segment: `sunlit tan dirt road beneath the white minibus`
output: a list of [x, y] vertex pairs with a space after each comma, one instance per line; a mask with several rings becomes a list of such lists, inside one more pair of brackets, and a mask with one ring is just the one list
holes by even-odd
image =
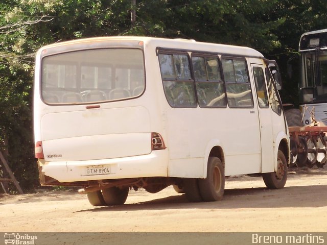
[[0, 232], [325, 232], [327, 169], [296, 169], [281, 190], [261, 177], [228, 178], [224, 200], [209, 203], [189, 203], [172, 187], [130, 191], [116, 207], [68, 191], [2, 195], [0, 217]]

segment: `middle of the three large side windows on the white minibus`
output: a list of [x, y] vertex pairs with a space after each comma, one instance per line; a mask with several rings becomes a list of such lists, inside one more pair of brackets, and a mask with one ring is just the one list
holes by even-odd
[[220, 67], [216, 57], [192, 56], [200, 107], [226, 107], [226, 97]]

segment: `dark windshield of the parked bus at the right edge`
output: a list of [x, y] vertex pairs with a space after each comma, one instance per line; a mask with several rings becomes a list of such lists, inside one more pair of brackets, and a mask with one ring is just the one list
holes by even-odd
[[305, 79], [302, 81], [301, 93], [303, 103], [327, 102], [327, 55], [320, 53], [318, 66], [314, 53], [303, 55]]

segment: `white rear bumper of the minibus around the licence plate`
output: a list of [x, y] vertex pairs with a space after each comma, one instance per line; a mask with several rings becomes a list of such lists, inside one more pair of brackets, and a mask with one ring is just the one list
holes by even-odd
[[[39, 159], [38, 161], [40, 180], [41, 184], [44, 185], [47, 184], [42, 181], [45, 177], [53, 178], [61, 183], [139, 177], [167, 177], [168, 162], [167, 149], [152, 151], [147, 155], [112, 159], [52, 162]], [[110, 174], [87, 174], [87, 169], [101, 166], [110, 169]]]

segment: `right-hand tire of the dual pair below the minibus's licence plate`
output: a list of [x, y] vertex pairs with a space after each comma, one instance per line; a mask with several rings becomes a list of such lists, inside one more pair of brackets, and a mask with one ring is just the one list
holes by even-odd
[[102, 197], [107, 206], [123, 205], [128, 196], [128, 187], [120, 189], [110, 187], [102, 190]]

